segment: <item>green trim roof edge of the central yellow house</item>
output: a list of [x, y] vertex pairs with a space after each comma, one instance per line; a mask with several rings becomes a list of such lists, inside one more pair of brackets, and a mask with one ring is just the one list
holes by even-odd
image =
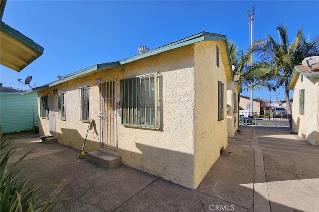
[[[87, 73], [90, 73], [90, 72], [93, 72], [93, 71], [97, 71], [97, 70], [100, 70], [100, 69], [109, 69], [109, 68], [121, 66], [121, 65], [124, 65], [124, 64], [127, 64], [127, 63], [131, 63], [131, 62], [140, 60], [142, 58], [146, 58], [146, 57], [149, 57], [149, 56], [152, 56], [152, 55], [157, 55], [157, 54], [160, 54], [160, 53], [168, 51], [168, 50], [176, 49], [176, 48], [179, 48], [179, 47], [182, 47], [182, 46], [187, 46], [187, 45], [190, 45], [190, 44], [193, 44], [193, 43], [196, 43], [196, 42], [199, 42], [199, 41], [203, 41], [203, 40], [225, 41], [226, 52], [227, 52], [227, 55], [228, 55], [228, 60], [230, 62], [230, 56], [229, 56], [229, 50], [228, 50], [228, 47], [227, 47], [228, 44], [227, 44], [226, 36], [225, 35], [220, 35], [220, 34], [215, 34], [215, 33], [210, 33], [210, 32], [200, 32], [200, 33], [197, 33], [195, 35], [191, 35], [191, 36], [183, 38], [181, 40], [178, 40], [178, 41], [169, 43], [167, 45], [158, 47], [156, 49], [150, 50], [150, 51], [148, 51], [146, 53], [143, 53], [143, 54], [135, 55], [135, 56], [132, 56], [132, 57], [129, 57], [129, 58], [117, 61], [117, 62], [97, 64], [97, 65], [90, 66], [88, 68], [85, 68], [85, 69], [82, 69], [82, 70], [79, 70], [79, 71], [75, 71], [73, 73], [64, 75], [62, 77], [62, 79], [60, 79], [60, 80], [56, 80], [56, 81], [50, 82], [50, 83], [48, 83], [46, 85], [42, 85], [40, 87], [33, 88], [32, 90], [28, 90], [27, 92], [25, 92], [25, 94], [32, 93], [32, 92], [35, 92], [37, 90], [45, 89], [47, 87], [52, 87], [54, 85], [60, 84], [62, 82], [68, 81], [70, 79], [77, 78], [79, 76], [82, 76], [84, 74], [87, 74]], [[233, 72], [232, 72], [232, 68], [231, 68], [231, 63], [229, 63], [229, 66], [230, 66], [230, 71], [231, 71], [232, 78], [234, 78]]]

